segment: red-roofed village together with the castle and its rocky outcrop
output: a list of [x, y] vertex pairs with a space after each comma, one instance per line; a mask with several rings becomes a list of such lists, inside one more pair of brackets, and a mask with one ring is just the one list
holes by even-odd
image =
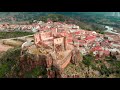
[[[22, 45], [22, 68], [25, 65], [23, 61], [27, 52], [30, 54], [27, 57], [28, 64], [45, 66], [49, 78], [61, 77], [70, 62], [76, 65], [83, 60], [84, 55], [90, 53], [93, 53], [96, 60], [110, 55], [115, 56], [117, 61], [120, 60], [119, 35], [99, 34], [95, 31], [83, 30], [74, 24], [52, 22], [51, 20], [48, 20], [47, 23], [37, 22], [32, 31], [35, 33], [34, 43], [33, 40], [27, 41], [29, 43], [27, 49]], [[33, 63], [30, 60], [35, 61]], [[53, 70], [52, 67], [56, 69]]]

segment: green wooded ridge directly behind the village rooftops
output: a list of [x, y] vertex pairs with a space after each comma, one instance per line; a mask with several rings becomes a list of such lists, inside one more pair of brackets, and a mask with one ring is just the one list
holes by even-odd
[[65, 16], [62, 14], [48, 14], [45, 16], [39, 16], [36, 17], [32, 20], [30, 20], [30, 23], [33, 23], [33, 20], [37, 20], [37, 21], [44, 21], [47, 22], [47, 20], [50, 19], [53, 22], [65, 22], [67, 24], [76, 24], [78, 26], [80, 26], [81, 29], [85, 29], [85, 30], [94, 30], [97, 32], [100, 32], [101, 30], [103, 30], [103, 27], [97, 25], [97, 24], [93, 24], [91, 22], [85, 22], [86, 20], [81, 19], [80, 16]]

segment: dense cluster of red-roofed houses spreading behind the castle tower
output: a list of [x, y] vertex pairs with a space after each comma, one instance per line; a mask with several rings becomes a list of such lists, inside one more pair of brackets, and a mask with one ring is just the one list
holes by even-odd
[[[120, 36], [103, 35], [95, 31], [82, 30], [74, 24], [48, 21], [40, 21], [34, 34], [35, 44], [50, 46], [54, 43], [55, 37], [65, 37], [67, 49], [77, 48], [83, 55], [90, 52], [97, 57], [108, 56], [111, 53], [120, 53]], [[61, 40], [58, 40], [58, 43]]]

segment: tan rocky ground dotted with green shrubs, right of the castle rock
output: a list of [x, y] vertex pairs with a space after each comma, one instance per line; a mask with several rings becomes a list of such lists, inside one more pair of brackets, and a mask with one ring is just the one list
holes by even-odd
[[88, 67], [83, 62], [78, 65], [69, 64], [64, 70], [63, 78], [119, 78], [120, 62], [92, 61]]

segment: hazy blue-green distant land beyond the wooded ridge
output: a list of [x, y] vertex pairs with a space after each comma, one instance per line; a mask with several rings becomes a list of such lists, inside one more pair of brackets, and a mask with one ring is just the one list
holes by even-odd
[[[79, 25], [82, 24], [81, 26], [88, 29], [92, 26], [96, 27], [96, 29], [97, 27], [100, 27], [101, 29], [104, 25], [120, 26], [118, 18], [109, 17], [112, 15], [112, 12], [0, 12], [0, 18], [6, 18], [4, 21], [8, 22], [10, 20], [8, 20], [7, 17], [14, 17], [17, 18], [16, 21], [19, 22], [34, 20], [41, 16], [48, 16], [49, 14], [61, 14], [67, 16], [77, 20], [77, 23], [80, 22]], [[0, 21], [0, 23], [4, 21]]]

